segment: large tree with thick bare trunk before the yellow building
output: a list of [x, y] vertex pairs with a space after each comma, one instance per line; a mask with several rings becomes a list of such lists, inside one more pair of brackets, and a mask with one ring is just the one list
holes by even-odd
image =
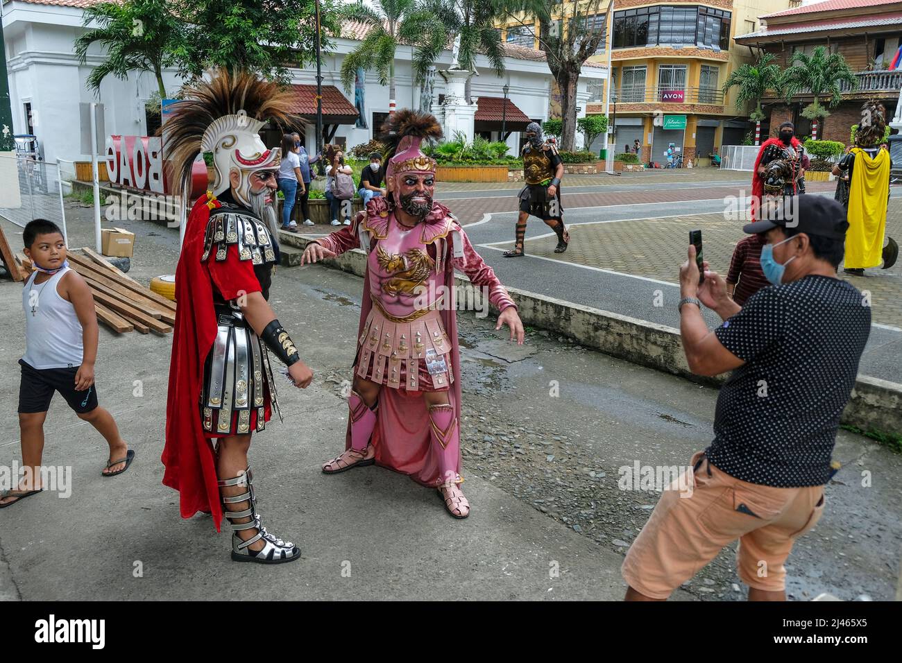
[[[585, 61], [604, 46], [606, 11], [611, 0], [561, 3], [548, 0], [506, 0], [505, 16], [533, 30], [538, 20], [538, 48], [561, 94], [560, 149], [572, 150], [576, 135], [576, 87]], [[523, 14], [520, 14], [523, 12]], [[521, 18], [527, 16], [526, 19]], [[512, 27], [509, 24], [509, 27]]]

